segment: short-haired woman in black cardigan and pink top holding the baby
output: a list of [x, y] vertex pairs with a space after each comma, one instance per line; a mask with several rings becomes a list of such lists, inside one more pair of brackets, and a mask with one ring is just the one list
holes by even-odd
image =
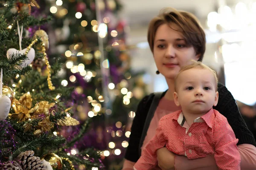
[[[159, 16], [151, 20], [148, 27], [148, 43], [157, 65], [157, 74], [166, 78], [169, 89], [161, 95], [160, 102], [154, 116], [149, 119], [149, 126], [145, 127], [146, 136], [143, 136], [143, 127], [148, 122], [147, 114], [154, 94], [145, 96], [139, 103], [136, 116], [131, 127], [129, 146], [125, 153], [123, 170], [132, 170], [133, 165], [140, 157], [143, 149], [154, 136], [160, 118], [168, 113], [179, 110], [173, 101], [174, 78], [180, 67], [189, 60], [201, 61], [204, 57], [206, 39], [205, 33], [193, 14], [165, 8]], [[218, 84], [219, 102], [214, 109], [223, 114], [236, 138], [239, 139], [238, 148], [241, 156], [242, 170], [256, 169], [256, 143], [252, 133], [248, 130], [241, 118], [235, 99], [224, 85]], [[144, 130], [144, 131], [145, 131]], [[178, 140], [178, 139], [177, 139]], [[140, 141], [143, 141], [140, 147]], [[185, 156], [177, 156], [165, 147], [157, 150], [158, 165], [162, 170], [218, 170], [213, 156], [188, 160]], [[158, 168], [159, 169], [159, 168]]]

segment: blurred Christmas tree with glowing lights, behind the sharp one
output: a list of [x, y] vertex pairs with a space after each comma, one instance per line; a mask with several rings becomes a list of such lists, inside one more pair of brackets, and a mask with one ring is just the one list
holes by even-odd
[[[93, 119], [93, 129], [76, 143], [76, 149], [96, 147], [108, 170], [120, 169], [128, 146], [132, 119], [145, 85], [131, 71], [126, 45], [127, 25], [120, 17], [118, 0], [46, 0], [42, 9], [52, 16], [50, 58], [63, 56], [61, 78], [75, 87], [80, 103], [76, 119]], [[141, 73], [140, 73], [141, 74]], [[138, 77], [139, 76], [139, 77]], [[64, 131], [70, 136], [75, 127]], [[84, 142], [86, 141], [86, 142]]]

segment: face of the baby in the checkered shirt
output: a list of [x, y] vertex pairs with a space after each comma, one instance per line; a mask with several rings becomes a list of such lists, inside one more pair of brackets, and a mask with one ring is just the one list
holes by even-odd
[[216, 80], [207, 69], [192, 68], [177, 78], [177, 96], [182, 110], [190, 113], [207, 113], [218, 103]]

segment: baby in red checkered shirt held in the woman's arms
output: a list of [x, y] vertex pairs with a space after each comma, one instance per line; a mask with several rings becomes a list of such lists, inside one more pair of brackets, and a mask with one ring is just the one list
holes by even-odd
[[218, 111], [218, 78], [201, 62], [181, 68], [175, 78], [174, 101], [180, 111], [163, 116], [155, 136], [148, 142], [134, 170], [150, 170], [157, 165], [157, 150], [198, 159], [214, 154], [219, 170], [240, 170], [238, 139]]

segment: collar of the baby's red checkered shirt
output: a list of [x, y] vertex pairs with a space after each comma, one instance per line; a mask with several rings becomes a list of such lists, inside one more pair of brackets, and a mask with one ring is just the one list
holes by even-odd
[[[213, 113], [213, 109], [211, 108], [211, 110], [209, 110], [206, 114], [204, 114], [201, 117], [198, 117], [194, 120], [194, 122], [206, 122], [206, 124], [212, 128], [212, 124], [214, 121], [214, 113]], [[185, 117], [182, 113], [182, 111], [179, 111], [179, 113], [177, 114], [177, 116], [174, 116], [173, 119], [177, 120], [178, 124], [180, 124], [181, 126], [184, 125], [185, 122]]]

